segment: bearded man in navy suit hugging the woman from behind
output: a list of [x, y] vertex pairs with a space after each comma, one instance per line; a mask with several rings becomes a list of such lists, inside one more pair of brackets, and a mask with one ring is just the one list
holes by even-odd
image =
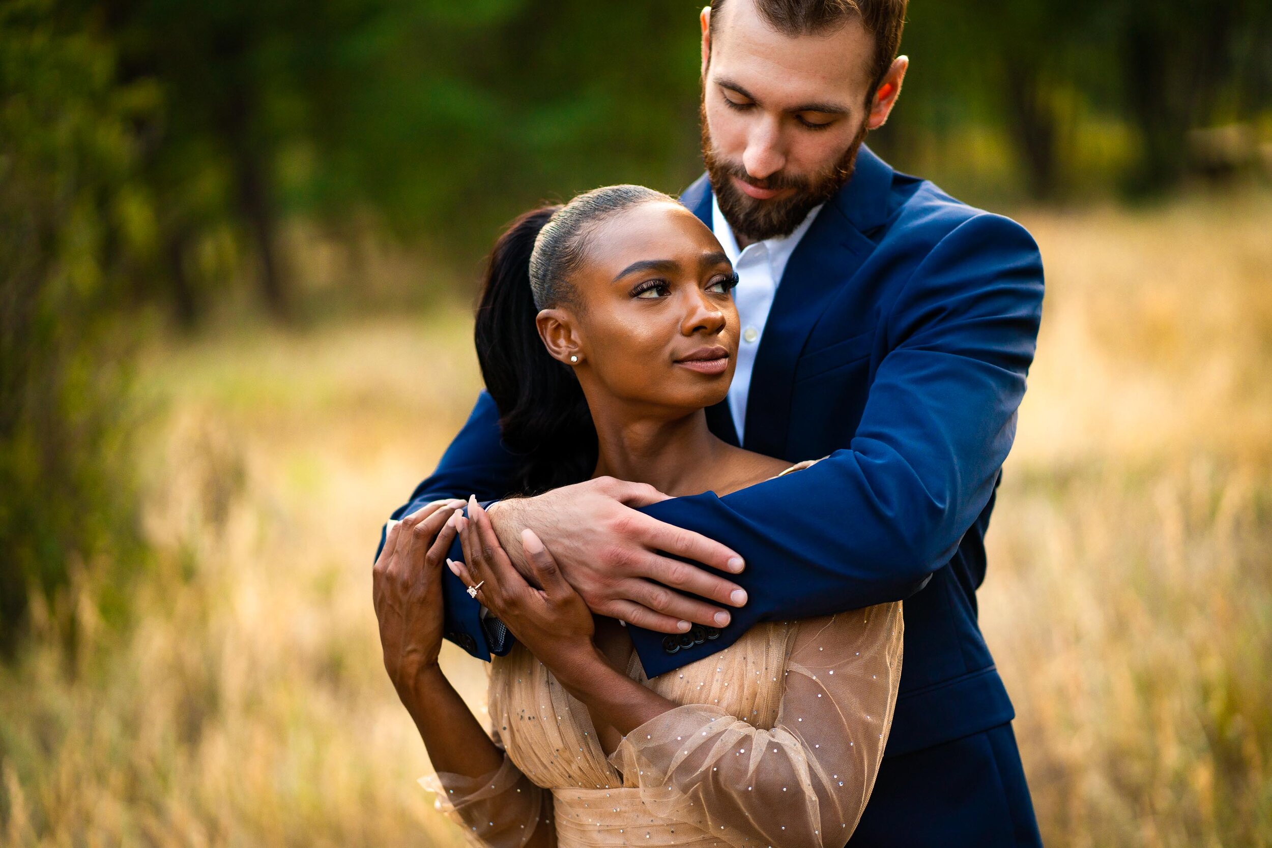
[[[1019, 225], [862, 144], [901, 94], [904, 15], [906, 0], [714, 0], [701, 13], [707, 173], [681, 200], [734, 263], [742, 320], [711, 428], [792, 463], [826, 459], [725, 497], [599, 478], [499, 500], [515, 458], [483, 393], [393, 517], [497, 501], [504, 548], [532, 529], [594, 613], [631, 626], [649, 678], [759, 620], [903, 600], [899, 699], [850, 844], [1037, 845], [976, 589], [1042, 261]], [[444, 577], [448, 638], [482, 659], [506, 651], [506, 628]]]

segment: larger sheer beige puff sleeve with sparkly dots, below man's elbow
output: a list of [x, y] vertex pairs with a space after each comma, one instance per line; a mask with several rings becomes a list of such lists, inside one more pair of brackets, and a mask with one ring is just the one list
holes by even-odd
[[719, 707], [686, 704], [645, 722], [614, 750], [611, 762], [653, 811], [730, 845], [847, 842], [870, 798], [897, 704], [901, 603], [795, 627], [771, 730]]

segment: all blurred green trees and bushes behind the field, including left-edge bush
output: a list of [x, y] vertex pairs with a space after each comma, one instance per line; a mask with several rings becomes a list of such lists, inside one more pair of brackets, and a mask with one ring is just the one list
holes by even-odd
[[[420, 250], [403, 287], [441, 289], [532, 203], [682, 188], [698, 3], [0, 6], [0, 632], [23, 586], [53, 598], [130, 535], [121, 341], [141, 308], [191, 328], [254, 291], [293, 319], [309, 254], [368, 242]], [[969, 200], [1272, 163], [1266, 0], [916, 0], [911, 18], [906, 95], [871, 144]]]

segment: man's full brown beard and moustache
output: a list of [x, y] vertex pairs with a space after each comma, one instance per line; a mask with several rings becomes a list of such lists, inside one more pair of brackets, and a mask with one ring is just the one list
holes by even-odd
[[[731, 163], [716, 155], [715, 145], [711, 144], [711, 130], [707, 127], [706, 104], [702, 103], [698, 111], [702, 125], [702, 160], [706, 163], [716, 202], [720, 203], [720, 212], [736, 235], [752, 242], [790, 235], [813, 209], [834, 197], [836, 192], [852, 179], [857, 150], [868, 132], [862, 121], [861, 130], [848, 149], [838, 161], [822, 172], [812, 175], [777, 172], [764, 179], [754, 179], [747, 175], [747, 169], [740, 163]], [[738, 188], [730, 177], [758, 188], [795, 191], [782, 198], [757, 200]]]

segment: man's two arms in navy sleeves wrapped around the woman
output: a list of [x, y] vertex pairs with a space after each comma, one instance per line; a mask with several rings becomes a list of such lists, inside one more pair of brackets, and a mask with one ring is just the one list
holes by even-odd
[[[722, 498], [658, 500], [647, 487], [602, 479], [508, 501], [494, 514], [500, 539], [515, 561], [511, 542], [533, 528], [593, 610], [664, 633], [677, 632], [678, 619], [719, 627], [715, 615], [735, 605], [739, 587], [749, 590], [749, 603], [730, 610], [721, 642], [759, 619], [906, 598], [948, 562], [992, 495], [1015, 434], [1042, 294], [1042, 261], [1029, 234], [1007, 219], [977, 215], [880, 304], [878, 365], [842, 450]], [[514, 462], [500, 444], [495, 404], [482, 395], [438, 472], [403, 509], [439, 496], [500, 497], [499, 481], [506, 487]], [[735, 557], [745, 570], [725, 580]], [[717, 605], [693, 606], [667, 586]], [[459, 603], [467, 601], [463, 587], [449, 581], [446, 591], [457, 601], [448, 604], [455, 628], [480, 633], [477, 605]], [[466, 615], [467, 624], [459, 620]], [[635, 631], [633, 638], [642, 659], [661, 653], [651, 647], [661, 641], [656, 633]], [[483, 647], [476, 653], [485, 656]]]

